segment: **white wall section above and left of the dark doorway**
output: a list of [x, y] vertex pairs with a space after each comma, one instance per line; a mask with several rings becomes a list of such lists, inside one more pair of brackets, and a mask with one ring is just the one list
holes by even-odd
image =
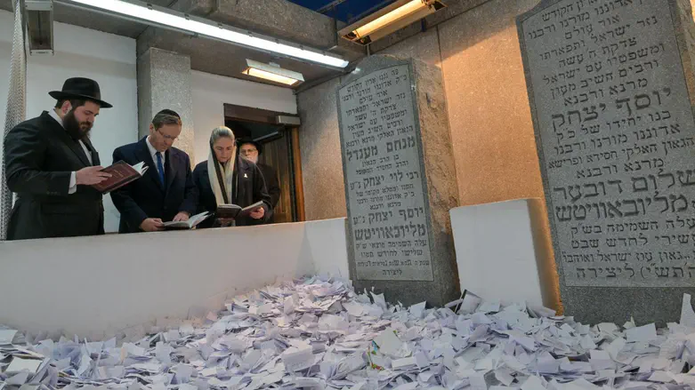
[[224, 103], [296, 114], [295, 94], [289, 88], [193, 71], [193, 125], [196, 163], [207, 160], [210, 132], [224, 125]]

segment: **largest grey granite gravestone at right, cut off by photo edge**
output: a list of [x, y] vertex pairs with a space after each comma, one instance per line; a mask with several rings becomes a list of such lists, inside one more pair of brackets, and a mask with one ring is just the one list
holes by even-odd
[[677, 321], [695, 290], [679, 12], [675, 0], [545, 0], [517, 20], [562, 302], [580, 321]]

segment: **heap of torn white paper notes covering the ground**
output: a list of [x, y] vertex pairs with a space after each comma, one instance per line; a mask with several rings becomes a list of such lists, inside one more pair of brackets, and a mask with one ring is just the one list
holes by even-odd
[[695, 314], [681, 324], [582, 325], [473, 295], [387, 306], [312, 277], [234, 298], [137, 340], [31, 339], [0, 329], [0, 390], [53, 388], [591, 390], [695, 386]]

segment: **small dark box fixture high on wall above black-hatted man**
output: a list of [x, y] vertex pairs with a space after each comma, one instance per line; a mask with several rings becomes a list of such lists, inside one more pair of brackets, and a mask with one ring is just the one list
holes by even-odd
[[24, 0], [30, 54], [53, 54], [53, 0]]

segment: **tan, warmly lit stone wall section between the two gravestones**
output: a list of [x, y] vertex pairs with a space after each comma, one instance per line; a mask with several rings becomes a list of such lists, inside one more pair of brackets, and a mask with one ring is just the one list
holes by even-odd
[[490, 1], [439, 26], [461, 205], [543, 197], [514, 24], [537, 1], [509, 3]]

